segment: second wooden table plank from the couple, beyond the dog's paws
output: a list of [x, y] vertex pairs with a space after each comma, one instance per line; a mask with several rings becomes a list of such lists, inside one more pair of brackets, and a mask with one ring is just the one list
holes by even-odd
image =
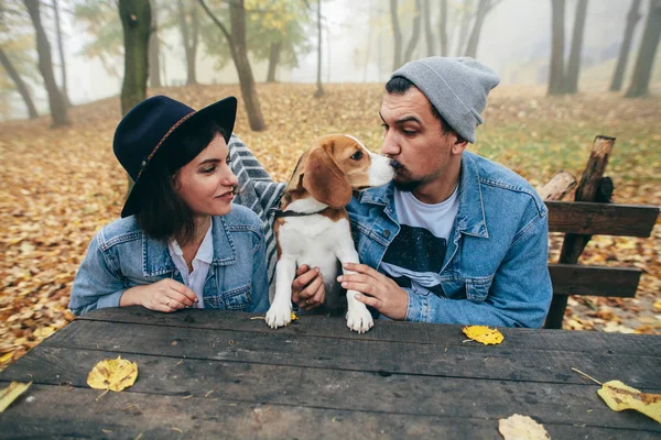
[[[465, 340], [463, 334], [454, 338]], [[301, 338], [281, 332], [76, 321], [75, 326], [69, 324], [42, 345], [117, 351], [122, 355], [143, 353], [177, 359], [549, 383], [582, 383], [583, 378], [571, 371], [577, 367], [597, 378], [617, 377], [639, 388], [658, 386], [661, 371], [661, 352], [649, 351], [651, 345], [642, 355], [615, 351], [613, 354], [588, 353], [562, 348], [538, 350], [530, 344], [516, 346], [508, 343], [507, 337], [500, 345], [485, 346], [469, 341], [444, 348], [410, 342]]]

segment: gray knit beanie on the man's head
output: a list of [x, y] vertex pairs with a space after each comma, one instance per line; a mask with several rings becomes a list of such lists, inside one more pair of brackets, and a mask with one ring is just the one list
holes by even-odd
[[415, 85], [462, 138], [475, 143], [475, 129], [483, 123], [489, 90], [500, 78], [484, 64], [468, 57], [432, 56], [409, 62], [392, 74]]

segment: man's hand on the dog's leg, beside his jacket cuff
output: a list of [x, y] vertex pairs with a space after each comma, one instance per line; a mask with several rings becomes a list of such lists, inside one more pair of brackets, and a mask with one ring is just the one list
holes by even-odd
[[356, 274], [337, 277], [342, 287], [357, 290], [356, 299], [371, 306], [390, 319], [407, 319], [409, 294], [395, 282], [366, 264], [345, 263], [343, 267]]

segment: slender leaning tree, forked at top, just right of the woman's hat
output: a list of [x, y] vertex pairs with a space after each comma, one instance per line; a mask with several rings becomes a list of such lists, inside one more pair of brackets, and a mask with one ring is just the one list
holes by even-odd
[[204, 8], [209, 18], [216, 23], [227, 40], [231, 58], [234, 59], [239, 82], [241, 86], [241, 96], [246, 102], [246, 111], [248, 112], [248, 123], [252, 131], [267, 130], [264, 118], [259, 105], [259, 97], [254, 86], [254, 77], [252, 68], [248, 59], [248, 48], [246, 46], [246, 8], [243, 0], [235, 0], [229, 4], [229, 20], [231, 24], [231, 34], [225, 28], [225, 24], [212, 12], [204, 0], [199, 0], [199, 4]]

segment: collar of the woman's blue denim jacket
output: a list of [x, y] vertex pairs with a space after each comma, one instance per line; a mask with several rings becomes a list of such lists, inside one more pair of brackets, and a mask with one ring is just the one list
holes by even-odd
[[[236, 262], [234, 242], [223, 217], [212, 217], [214, 260], [212, 265], [224, 266]], [[158, 276], [176, 268], [167, 242], [151, 239], [142, 232], [142, 272], [145, 276]]]

